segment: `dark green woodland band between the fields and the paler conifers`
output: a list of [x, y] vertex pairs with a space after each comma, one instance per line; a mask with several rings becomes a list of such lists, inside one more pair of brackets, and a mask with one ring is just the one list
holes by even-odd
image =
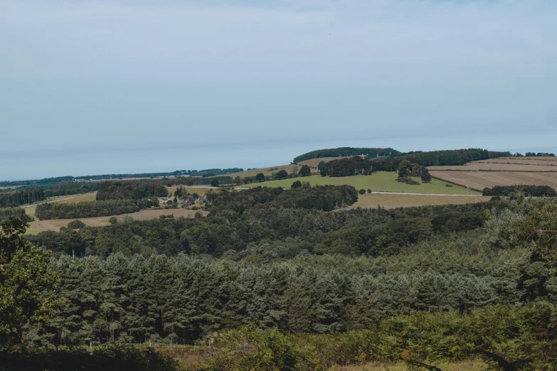
[[[206, 217], [127, 220], [107, 227], [83, 227], [79, 232], [42, 232], [28, 239], [56, 252], [107, 256], [156, 252], [211, 254], [244, 250], [263, 240], [287, 243], [284, 254], [306, 249], [318, 254], [396, 254], [439, 232], [474, 230], [485, 212], [504, 203], [444, 205], [396, 210], [338, 210], [351, 205], [356, 190], [349, 186], [252, 188], [221, 190], [206, 195]], [[77, 217], [73, 217], [77, 218]]]

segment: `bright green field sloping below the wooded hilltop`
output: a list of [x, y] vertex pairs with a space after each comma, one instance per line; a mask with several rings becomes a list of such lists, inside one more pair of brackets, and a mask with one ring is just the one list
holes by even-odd
[[404, 193], [439, 193], [446, 195], [480, 195], [481, 193], [470, 190], [460, 185], [452, 185], [447, 187], [447, 182], [438, 179], [432, 179], [431, 183], [421, 183], [420, 178], [413, 178], [420, 185], [409, 185], [406, 183], [398, 183], [396, 173], [388, 171], [380, 171], [373, 173], [371, 176], [306, 176], [304, 178], [290, 178], [282, 181], [267, 181], [263, 183], [251, 183], [243, 185], [244, 187], [257, 187], [259, 185], [266, 187], [282, 187], [290, 188], [295, 181], [309, 182], [310, 185], [354, 185], [357, 190], [371, 189], [372, 191], [383, 192], [404, 192]]

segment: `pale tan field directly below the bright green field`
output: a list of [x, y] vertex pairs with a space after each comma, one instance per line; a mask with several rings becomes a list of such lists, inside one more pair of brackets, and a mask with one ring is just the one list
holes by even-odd
[[359, 195], [358, 201], [347, 209], [354, 208], [382, 208], [392, 209], [411, 206], [425, 205], [448, 205], [448, 204], [465, 204], [479, 203], [489, 201], [490, 197], [484, 196], [459, 196], [459, 195], [389, 195], [386, 193], [366, 193]]

